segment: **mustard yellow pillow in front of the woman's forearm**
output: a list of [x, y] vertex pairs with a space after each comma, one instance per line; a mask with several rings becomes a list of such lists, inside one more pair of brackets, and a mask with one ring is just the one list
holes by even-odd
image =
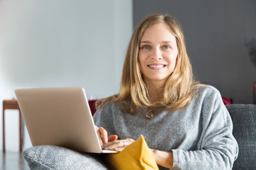
[[142, 135], [119, 153], [103, 154], [103, 159], [111, 170], [158, 170]]

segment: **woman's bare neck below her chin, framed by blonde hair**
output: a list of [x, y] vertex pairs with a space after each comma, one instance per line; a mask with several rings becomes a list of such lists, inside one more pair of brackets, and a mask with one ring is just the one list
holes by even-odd
[[148, 89], [149, 100], [159, 101], [163, 97], [163, 90], [166, 80], [147, 80], [144, 79], [144, 83]]

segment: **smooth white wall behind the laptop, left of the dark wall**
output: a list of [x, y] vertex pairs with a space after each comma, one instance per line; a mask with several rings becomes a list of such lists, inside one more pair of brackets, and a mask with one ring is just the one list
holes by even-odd
[[[132, 0], [1, 0], [0, 101], [23, 87], [82, 86], [89, 98], [117, 93], [131, 33]], [[18, 151], [18, 112], [5, 115], [6, 150]], [[24, 146], [31, 146], [27, 134]]]

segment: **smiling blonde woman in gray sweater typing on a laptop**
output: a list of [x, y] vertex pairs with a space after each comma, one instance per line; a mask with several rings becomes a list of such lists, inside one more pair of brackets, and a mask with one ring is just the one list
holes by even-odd
[[182, 30], [171, 16], [139, 23], [119, 93], [96, 107], [103, 149], [122, 151], [142, 134], [159, 169], [232, 169], [238, 156], [220, 93], [194, 81]]

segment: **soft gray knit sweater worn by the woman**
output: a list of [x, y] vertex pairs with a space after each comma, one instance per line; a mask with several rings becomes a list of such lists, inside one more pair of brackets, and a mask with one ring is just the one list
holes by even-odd
[[[108, 136], [136, 140], [140, 134], [148, 147], [173, 153], [172, 169], [232, 169], [238, 156], [238, 144], [232, 135], [233, 124], [217, 89], [199, 85], [197, 95], [178, 111], [157, 111], [153, 119], [145, 109], [133, 115], [123, 112], [110, 101], [94, 114], [95, 125], [107, 130]], [[164, 170], [159, 166], [159, 169]]]

